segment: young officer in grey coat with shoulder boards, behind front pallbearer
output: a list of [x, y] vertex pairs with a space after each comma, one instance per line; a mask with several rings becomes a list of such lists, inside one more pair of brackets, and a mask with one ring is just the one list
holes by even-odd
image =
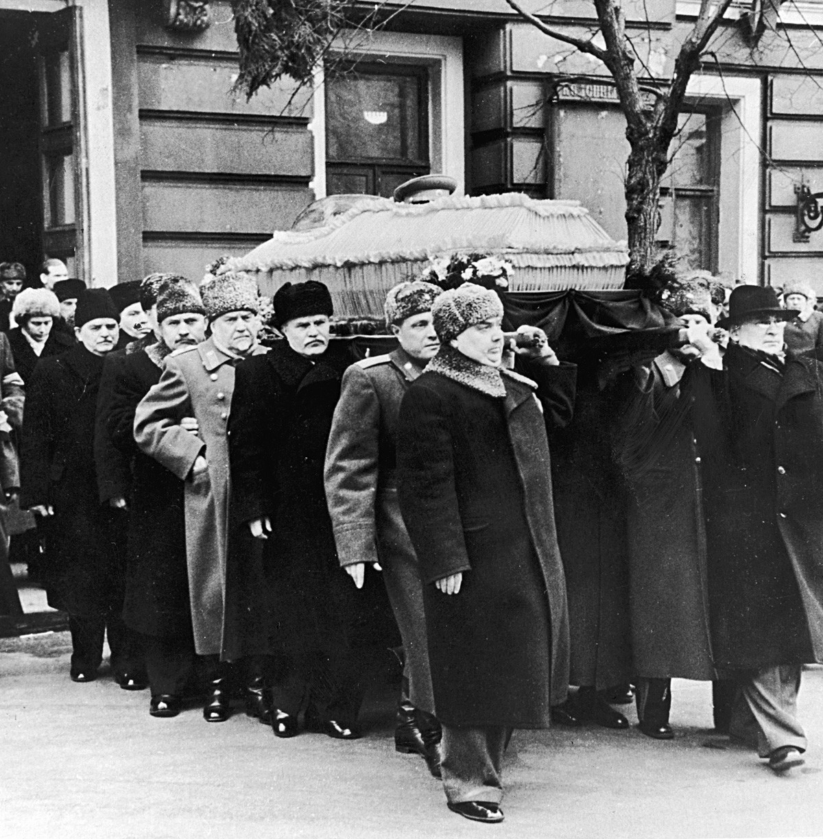
[[403, 638], [406, 666], [395, 748], [421, 754], [435, 777], [441, 731], [433, 716], [420, 571], [397, 503], [396, 433], [403, 394], [440, 347], [432, 303], [442, 290], [431, 283], [401, 283], [386, 296], [385, 322], [400, 347], [343, 374], [325, 474], [340, 564], [358, 588], [366, 564], [382, 569]]

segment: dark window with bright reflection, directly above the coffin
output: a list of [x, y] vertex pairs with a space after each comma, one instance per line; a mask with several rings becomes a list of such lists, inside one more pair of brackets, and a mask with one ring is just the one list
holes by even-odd
[[428, 70], [358, 64], [326, 81], [326, 191], [391, 197], [431, 170]]

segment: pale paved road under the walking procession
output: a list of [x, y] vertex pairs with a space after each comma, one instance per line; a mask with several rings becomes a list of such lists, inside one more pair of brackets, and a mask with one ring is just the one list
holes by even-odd
[[[710, 686], [676, 682], [678, 737], [636, 729], [516, 732], [506, 821], [450, 813], [422, 759], [391, 740], [391, 690], [370, 696], [367, 735], [278, 740], [238, 712], [148, 713], [148, 692], [102, 674], [68, 678], [67, 633], [0, 640], [2, 839], [449, 839], [823, 836], [823, 670], [809, 670], [800, 715], [804, 769], [776, 778], [710, 731]], [[632, 716], [632, 719], [634, 717]]]

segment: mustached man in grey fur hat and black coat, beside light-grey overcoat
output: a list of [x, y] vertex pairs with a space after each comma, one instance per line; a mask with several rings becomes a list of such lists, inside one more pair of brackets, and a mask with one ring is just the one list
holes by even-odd
[[184, 277], [149, 274], [141, 285], [141, 308], [152, 312], [156, 324], [154, 340], [131, 341], [106, 359], [94, 448], [100, 502], [128, 504], [128, 533], [120, 545], [128, 567], [123, 618], [139, 633], [145, 653], [145, 668], [120, 686], [140, 690], [149, 684], [149, 711], [172, 716], [195, 658], [183, 485], [135, 446], [134, 411], [160, 380], [165, 356], [204, 339], [206, 320], [197, 289]]

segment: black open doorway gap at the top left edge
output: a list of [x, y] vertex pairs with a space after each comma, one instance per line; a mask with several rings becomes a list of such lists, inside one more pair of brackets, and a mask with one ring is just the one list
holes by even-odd
[[23, 263], [29, 282], [42, 260], [38, 17], [0, 13], [0, 261]]

